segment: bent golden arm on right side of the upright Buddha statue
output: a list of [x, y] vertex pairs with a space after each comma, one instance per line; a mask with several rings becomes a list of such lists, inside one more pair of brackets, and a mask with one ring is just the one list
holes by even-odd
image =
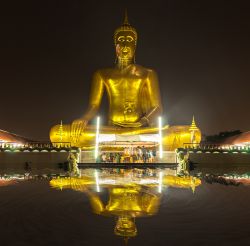
[[[161, 95], [159, 90], [159, 82], [156, 72], [150, 70], [148, 72], [146, 87], [148, 89], [151, 108], [143, 117], [146, 120], [146, 125], [154, 124], [155, 118], [162, 113]], [[145, 122], [144, 124], [145, 125]]]

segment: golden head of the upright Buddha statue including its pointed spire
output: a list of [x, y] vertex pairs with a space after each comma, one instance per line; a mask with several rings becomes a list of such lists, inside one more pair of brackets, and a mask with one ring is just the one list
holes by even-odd
[[115, 30], [114, 43], [116, 56], [121, 60], [132, 60], [135, 55], [137, 32], [128, 22], [127, 11], [123, 24]]

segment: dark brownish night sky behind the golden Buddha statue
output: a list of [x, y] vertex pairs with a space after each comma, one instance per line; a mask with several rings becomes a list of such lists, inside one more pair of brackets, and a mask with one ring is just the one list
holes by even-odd
[[248, 2], [1, 3], [0, 129], [46, 140], [51, 126], [81, 116], [93, 72], [114, 66], [113, 32], [127, 7], [137, 63], [159, 76], [165, 122], [195, 115], [205, 134], [250, 130]]

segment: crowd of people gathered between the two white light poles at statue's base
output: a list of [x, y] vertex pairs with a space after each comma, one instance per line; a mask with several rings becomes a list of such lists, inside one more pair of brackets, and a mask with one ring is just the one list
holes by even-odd
[[155, 148], [124, 148], [120, 152], [101, 152], [96, 162], [98, 163], [153, 163], [156, 158]]

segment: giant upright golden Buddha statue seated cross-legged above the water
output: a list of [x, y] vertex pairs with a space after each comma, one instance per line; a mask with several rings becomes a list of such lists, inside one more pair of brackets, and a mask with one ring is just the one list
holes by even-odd
[[[114, 33], [117, 65], [95, 72], [91, 84], [89, 106], [85, 114], [71, 125], [56, 125], [51, 129], [51, 142], [71, 142], [77, 147], [94, 146], [95, 125], [90, 125], [100, 107], [104, 90], [109, 99], [109, 124], [102, 126], [105, 134], [156, 134], [157, 117], [162, 114], [162, 103], [157, 74], [154, 70], [135, 64], [137, 32], [124, 23]], [[59, 134], [63, 129], [63, 134]], [[195, 133], [195, 136], [194, 136]], [[190, 126], [163, 127], [163, 144], [169, 148], [200, 142], [198, 128], [191, 133]]]

